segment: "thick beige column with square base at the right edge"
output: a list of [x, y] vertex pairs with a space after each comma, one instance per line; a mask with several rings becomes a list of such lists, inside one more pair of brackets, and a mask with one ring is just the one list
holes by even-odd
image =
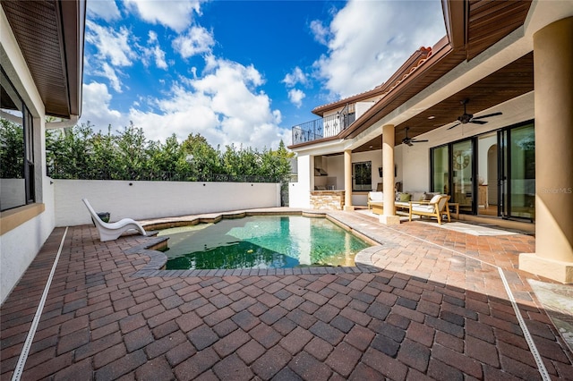
[[573, 17], [534, 35], [535, 254], [519, 269], [573, 283]]

